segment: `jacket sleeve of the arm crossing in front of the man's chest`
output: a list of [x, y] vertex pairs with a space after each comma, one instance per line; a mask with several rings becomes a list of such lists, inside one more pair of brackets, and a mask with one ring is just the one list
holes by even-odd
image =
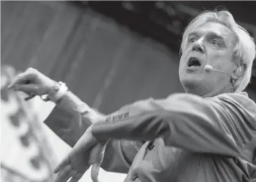
[[192, 152], [239, 156], [256, 137], [256, 105], [246, 96], [201, 98], [176, 94], [156, 100], [160, 109], [112, 123], [96, 123], [98, 139], [151, 140]]

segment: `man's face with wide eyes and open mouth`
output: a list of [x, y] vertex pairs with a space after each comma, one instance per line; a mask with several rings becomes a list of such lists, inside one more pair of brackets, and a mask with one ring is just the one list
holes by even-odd
[[199, 86], [213, 91], [228, 84], [228, 75], [204, 68], [210, 65], [232, 75], [235, 40], [234, 33], [220, 23], [205, 23], [190, 32], [179, 63], [179, 80], [183, 87]]

